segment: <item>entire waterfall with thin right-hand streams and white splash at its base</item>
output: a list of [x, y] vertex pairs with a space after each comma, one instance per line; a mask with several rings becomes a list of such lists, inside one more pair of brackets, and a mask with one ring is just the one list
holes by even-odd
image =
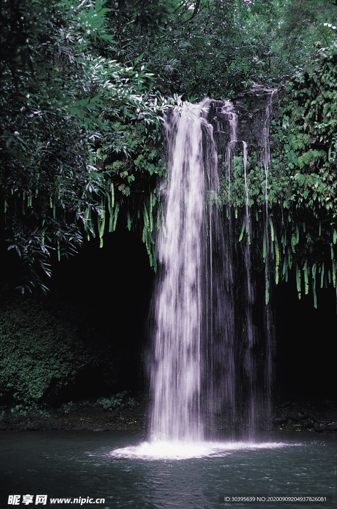
[[[261, 134], [266, 182], [273, 92]], [[215, 137], [224, 137], [225, 126], [227, 186], [230, 190], [231, 157], [241, 144], [247, 196], [245, 271], [239, 291], [230, 207], [225, 222], [217, 198]], [[269, 306], [261, 306], [264, 330], [258, 330], [253, 312], [247, 143], [237, 139], [237, 114], [230, 101], [184, 103], [166, 118], [165, 131], [169, 177], [150, 317], [153, 342], [147, 354], [149, 442], [112, 454], [186, 459], [280, 447], [283, 444], [256, 442], [256, 431], [268, 430], [271, 423], [274, 335]], [[243, 436], [248, 441], [214, 441], [219, 438], [217, 414], [225, 415], [230, 439]]]

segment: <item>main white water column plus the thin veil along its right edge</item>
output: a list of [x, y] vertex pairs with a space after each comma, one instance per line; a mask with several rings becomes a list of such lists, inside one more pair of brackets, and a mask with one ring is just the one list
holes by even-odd
[[202, 440], [214, 413], [224, 406], [233, 413], [235, 404], [232, 268], [216, 204], [217, 152], [207, 105], [185, 103], [166, 122], [169, 183], [148, 362], [153, 439]]

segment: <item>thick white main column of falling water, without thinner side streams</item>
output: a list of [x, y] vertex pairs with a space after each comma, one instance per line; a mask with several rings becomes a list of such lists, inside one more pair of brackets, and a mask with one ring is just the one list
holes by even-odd
[[205, 175], [201, 110], [186, 104], [166, 124], [169, 184], [163, 266], [154, 294], [156, 331], [151, 359], [151, 436], [201, 440], [201, 341], [206, 252]]

